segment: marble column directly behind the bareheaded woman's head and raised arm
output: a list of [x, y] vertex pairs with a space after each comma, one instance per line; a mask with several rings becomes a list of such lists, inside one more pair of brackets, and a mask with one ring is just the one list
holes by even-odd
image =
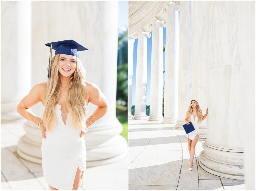
[[[192, 99], [206, 112], [206, 1], [193, 1]], [[199, 124], [199, 140], [206, 140], [207, 118]]]

